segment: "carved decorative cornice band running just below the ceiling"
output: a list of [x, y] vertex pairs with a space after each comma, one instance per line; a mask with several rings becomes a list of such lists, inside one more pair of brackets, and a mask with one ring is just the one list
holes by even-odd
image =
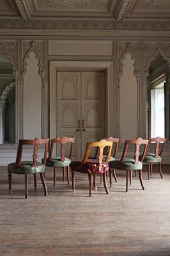
[[0, 29], [43, 29], [59, 30], [138, 30], [138, 31], [169, 31], [170, 21], [141, 21], [141, 20], [111, 20], [111, 19], [54, 19], [54, 20], [0, 20]]

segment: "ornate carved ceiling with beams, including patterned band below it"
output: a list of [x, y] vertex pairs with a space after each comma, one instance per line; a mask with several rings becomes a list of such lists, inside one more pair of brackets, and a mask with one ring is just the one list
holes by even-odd
[[[80, 22], [87, 23], [82, 28]], [[164, 29], [170, 22], [170, 0], [0, 0], [0, 28], [119, 29], [122, 22], [124, 29], [130, 22], [134, 29], [136, 22], [141, 29], [147, 27], [144, 22], [151, 29], [160, 22]]]

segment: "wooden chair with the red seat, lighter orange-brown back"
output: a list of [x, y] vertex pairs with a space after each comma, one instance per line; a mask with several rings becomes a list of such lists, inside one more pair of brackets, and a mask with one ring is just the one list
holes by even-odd
[[[89, 159], [90, 150], [93, 148], [98, 148], [98, 157], [97, 159]], [[104, 148], [109, 147], [107, 150], [107, 155], [104, 159]], [[112, 141], [94, 141], [86, 144], [86, 151], [84, 158], [81, 160], [73, 161], [70, 163], [70, 168], [72, 171], [72, 189], [75, 191], [75, 172], [86, 173], [88, 174], [89, 179], [89, 196], [91, 196], [91, 174], [95, 177], [96, 174], [102, 173], [104, 188], [107, 194], [109, 194], [105, 173], [109, 170], [108, 161], [111, 156], [112, 150]], [[95, 174], [95, 175], [94, 175]], [[94, 180], [95, 183], [95, 180]], [[94, 184], [95, 187], [95, 184]]]

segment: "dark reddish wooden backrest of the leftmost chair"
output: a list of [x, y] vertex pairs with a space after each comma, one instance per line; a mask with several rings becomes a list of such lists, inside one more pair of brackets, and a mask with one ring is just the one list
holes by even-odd
[[45, 145], [44, 147], [44, 156], [43, 156], [43, 164], [46, 163], [47, 153], [49, 149], [49, 139], [39, 139], [35, 138], [35, 140], [19, 140], [19, 146], [17, 149], [17, 158], [15, 161], [15, 169], [19, 168], [20, 163], [22, 161], [22, 153], [24, 145], [31, 145], [33, 146], [33, 166], [37, 167], [37, 159], [38, 159], [38, 150], [41, 145]]

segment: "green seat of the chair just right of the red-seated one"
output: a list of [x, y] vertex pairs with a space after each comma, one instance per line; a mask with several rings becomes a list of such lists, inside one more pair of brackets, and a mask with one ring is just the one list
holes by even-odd
[[141, 170], [143, 168], [143, 163], [139, 161], [138, 164], [135, 163], [135, 159], [125, 158], [121, 164], [120, 159], [115, 159], [114, 161], [109, 162], [109, 166], [118, 170]]

